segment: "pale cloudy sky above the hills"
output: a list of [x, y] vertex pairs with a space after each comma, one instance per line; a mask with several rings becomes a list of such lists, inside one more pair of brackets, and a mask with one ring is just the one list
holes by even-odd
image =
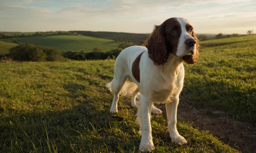
[[0, 32], [145, 34], [171, 17], [197, 34], [256, 33], [256, 0], [0, 0]]

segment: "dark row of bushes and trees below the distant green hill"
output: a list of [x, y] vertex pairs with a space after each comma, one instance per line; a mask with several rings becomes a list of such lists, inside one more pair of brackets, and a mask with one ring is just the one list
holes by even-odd
[[98, 47], [94, 48], [92, 52], [63, 52], [60, 49], [34, 46], [32, 44], [21, 44], [10, 49], [10, 53], [4, 57], [11, 58], [14, 61], [32, 61], [32, 62], [46, 62], [46, 61], [66, 61], [70, 60], [105, 60], [115, 59], [122, 48], [113, 49], [107, 52], [101, 52]]

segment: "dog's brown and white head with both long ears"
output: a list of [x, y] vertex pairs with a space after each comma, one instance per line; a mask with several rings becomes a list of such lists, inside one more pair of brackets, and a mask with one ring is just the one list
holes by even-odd
[[170, 53], [194, 64], [199, 55], [199, 44], [193, 27], [184, 18], [169, 18], [155, 26], [146, 40], [148, 55], [156, 65], [164, 65]]

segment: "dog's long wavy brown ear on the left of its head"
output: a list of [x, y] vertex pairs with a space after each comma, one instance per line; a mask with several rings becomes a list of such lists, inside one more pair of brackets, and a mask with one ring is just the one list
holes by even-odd
[[146, 47], [148, 49], [148, 56], [158, 66], [164, 65], [168, 58], [169, 53], [166, 48], [166, 41], [164, 35], [165, 26], [155, 26], [153, 32], [146, 40]]

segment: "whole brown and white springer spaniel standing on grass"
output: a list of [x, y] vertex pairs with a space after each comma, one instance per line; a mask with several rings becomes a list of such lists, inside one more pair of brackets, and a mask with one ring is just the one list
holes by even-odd
[[[110, 112], [117, 112], [119, 94], [132, 94], [132, 106], [138, 108], [137, 123], [142, 136], [139, 149], [152, 151], [150, 117], [162, 111], [153, 103], [165, 103], [172, 142], [187, 143], [176, 128], [177, 106], [183, 87], [184, 67], [197, 62], [199, 44], [193, 27], [184, 18], [169, 18], [155, 26], [146, 47], [132, 46], [116, 58], [114, 78], [107, 87], [114, 90]], [[136, 97], [140, 94], [140, 102]]]

